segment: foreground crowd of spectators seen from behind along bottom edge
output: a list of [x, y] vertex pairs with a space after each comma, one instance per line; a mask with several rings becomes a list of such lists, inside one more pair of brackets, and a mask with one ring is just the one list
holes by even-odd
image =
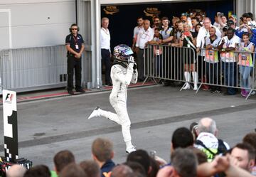
[[[92, 142], [92, 159], [78, 162], [71, 151], [53, 157], [54, 170], [36, 165], [26, 170], [14, 165], [7, 177], [191, 177], [256, 176], [256, 132], [246, 134], [231, 147], [218, 137], [216, 122], [209, 117], [179, 127], [171, 137], [170, 154], [156, 156], [144, 149], [127, 154], [124, 163], [114, 163], [114, 144], [109, 139]], [[166, 159], [167, 161], [165, 161]]]

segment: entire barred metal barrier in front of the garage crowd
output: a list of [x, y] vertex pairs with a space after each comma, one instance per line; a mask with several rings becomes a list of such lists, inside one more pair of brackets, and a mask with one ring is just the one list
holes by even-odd
[[227, 87], [230, 94], [241, 89], [246, 99], [255, 91], [255, 53], [201, 48], [204, 56], [199, 56], [193, 48], [169, 45], [147, 45], [144, 53], [146, 80], [185, 82], [181, 90], [193, 83], [196, 92], [202, 85], [210, 85], [215, 92], [220, 92], [220, 87]]

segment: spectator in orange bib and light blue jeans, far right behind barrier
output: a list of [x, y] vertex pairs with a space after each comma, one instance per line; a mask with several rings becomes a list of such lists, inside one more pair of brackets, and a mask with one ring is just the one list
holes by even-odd
[[242, 43], [238, 55], [238, 65], [240, 65], [241, 75], [241, 95], [247, 97], [250, 92], [250, 73], [252, 73], [253, 63], [252, 52], [255, 51], [255, 45], [249, 41], [249, 33], [242, 34]]

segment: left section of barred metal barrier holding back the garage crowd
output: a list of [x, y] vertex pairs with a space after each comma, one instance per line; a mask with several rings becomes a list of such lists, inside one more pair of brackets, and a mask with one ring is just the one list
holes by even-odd
[[146, 79], [185, 81], [183, 77], [184, 64], [196, 63], [196, 51], [192, 48], [148, 45], [144, 49], [144, 53]]

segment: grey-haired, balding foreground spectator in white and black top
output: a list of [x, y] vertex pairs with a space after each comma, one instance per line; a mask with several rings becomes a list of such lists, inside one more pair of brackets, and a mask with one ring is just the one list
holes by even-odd
[[216, 135], [218, 129], [213, 119], [208, 117], [201, 119], [198, 122], [197, 133], [198, 137], [196, 139], [195, 147], [206, 154], [208, 161], [213, 161], [215, 155], [223, 154], [230, 149], [226, 142], [217, 139]]

